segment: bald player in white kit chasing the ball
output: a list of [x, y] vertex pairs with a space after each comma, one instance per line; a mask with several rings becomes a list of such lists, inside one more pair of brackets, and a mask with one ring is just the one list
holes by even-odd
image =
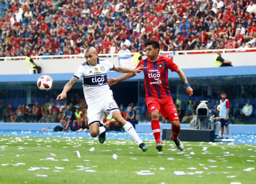
[[88, 105], [87, 117], [90, 135], [92, 137], [99, 135], [99, 142], [103, 144], [106, 138], [106, 125], [103, 124], [103, 118], [105, 115], [112, 115], [116, 122], [125, 129], [145, 152], [148, 150], [148, 146], [141, 141], [132, 124], [122, 118], [113, 98], [113, 92], [108, 86], [106, 75], [111, 70], [122, 73], [132, 72], [138, 75], [144, 66], [140, 66], [137, 69], [114, 66], [108, 60], [100, 60], [94, 47], [87, 47], [84, 56], [86, 62], [81, 63], [76, 73], [64, 86], [61, 94], [58, 95], [57, 100], [66, 98], [67, 92], [73, 84], [83, 77], [84, 97]]

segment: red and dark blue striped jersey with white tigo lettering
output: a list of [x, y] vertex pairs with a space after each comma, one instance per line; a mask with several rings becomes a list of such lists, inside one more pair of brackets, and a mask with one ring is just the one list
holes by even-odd
[[156, 61], [148, 58], [140, 60], [137, 67], [144, 65], [145, 97], [166, 98], [171, 97], [168, 84], [168, 69], [177, 71], [178, 66], [173, 63], [173, 58], [159, 56]]

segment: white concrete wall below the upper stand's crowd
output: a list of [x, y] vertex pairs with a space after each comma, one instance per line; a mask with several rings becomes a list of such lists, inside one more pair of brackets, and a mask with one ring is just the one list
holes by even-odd
[[[216, 54], [192, 54], [175, 55], [174, 62], [181, 69], [193, 68], [211, 68], [214, 67], [214, 58]], [[233, 66], [253, 66], [256, 65], [256, 52], [224, 53], [222, 57], [225, 60], [232, 61]], [[119, 66], [118, 58], [107, 58], [111, 63]], [[84, 62], [84, 58], [78, 59], [47, 59], [35, 60], [42, 67], [41, 73], [60, 74], [74, 73], [79, 64]], [[25, 60], [0, 61], [0, 75], [28, 74], [28, 66]]]

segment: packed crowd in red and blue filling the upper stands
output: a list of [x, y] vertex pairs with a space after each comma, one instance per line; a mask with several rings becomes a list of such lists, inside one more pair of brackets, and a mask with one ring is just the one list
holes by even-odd
[[251, 47], [255, 0], [0, 0], [0, 57]]

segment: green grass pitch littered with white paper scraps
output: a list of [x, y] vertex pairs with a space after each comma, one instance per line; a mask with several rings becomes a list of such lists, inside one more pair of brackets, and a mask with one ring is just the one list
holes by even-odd
[[[247, 161], [256, 160], [254, 157], [256, 145], [227, 146], [227, 144], [183, 142], [186, 150], [183, 154], [177, 154], [180, 153], [179, 150], [168, 150], [176, 149], [174, 143], [164, 141], [163, 154], [159, 154], [153, 141], [145, 143], [149, 145], [147, 152], [138, 150], [137, 144], [131, 140], [107, 139], [106, 144], [99, 144], [94, 138], [0, 136], [0, 184], [230, 184], [231, 182], [255, 184], [256, 182], [254, 178], [256, 170], [243, 171], [256, 166], [255, 162]], [[92, 147], [95, 150], [89, 151]], [[203, 151], [203, 147], [208, 148]], [[188, 150], [188, 148], [192, 149]], [[81, 158], [74, 152], [77, 150]], [[112, 157], [113, 154], [117, 155], [116, 160]], [[49, 157], [58, 161], [40, 161]], [[174, 160], [167, 158], [174, 158]], [[62, 161], [62, 159], [69, 161]], [[216, 162], [209, 162], [210, 159]], [[26, 165], [12, 165], [17, 163]], [[90, 170], [96, 172], [85, 172], [87, 169], [79, 171], [76, 166], [90, 167]], [[49, 167], [50, 169], [29, 171], [30, 167]], [[64, 167], [64, 169], [57, 173], [54, 172], [58, 170], [55, 167]], [[160, 170], [161, 167], [164, 169]], [[195, 167], [196, 170], [187, 169], [189, 167]], [[154, 175], [135, 173], [141, 170], [148, 170]], [[183, 171], [186, 175], [175, 175], [175, 171]], [[203, 171], [203, 173], [195, 174], [196, 171]], [[194, 175], [187, 173], [194, 173]], [[47, 177], [37, 175], [47, 175]], [[229, 176], [235, 176], [235, 178], [227, 178]]]

